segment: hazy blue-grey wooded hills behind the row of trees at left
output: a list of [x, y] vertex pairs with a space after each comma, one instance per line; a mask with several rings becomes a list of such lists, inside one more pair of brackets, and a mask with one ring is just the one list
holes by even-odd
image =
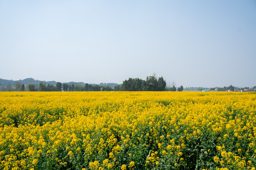
[[[15, 82], [19, 82], [20, 84], [24, 84], [24, 85], [27, 85], [29, 83], [34, 83], [35, 85], [39, 85], [39, 82], [41, 82], [41, 81], [42, 80], [35, 80], [34, 78], [25, 78], [23, 80], [6, 80], [6, 79], [0, 78], [0, 85], [14, 85]], [[56, 83], [57, 83], [55, 81], [42, 81], [42, 82], [46, 83], [46, 85], [48, 85], [48, 84], [56, 85]], [[62, 83], [62, 84], [85, 85], [85, 83], [83, 83], [83, 82], [67, 82], [67, 83]], [[96, 84], [89, 84], [89, 85], [96, 85]], [[111, 88], [114, 88], [116, 85], [119, 85], [119, 84], [117, 84], [117, 83], [100, 83], [99, 85], [102, 85], [102, 86], [108, 85]]]

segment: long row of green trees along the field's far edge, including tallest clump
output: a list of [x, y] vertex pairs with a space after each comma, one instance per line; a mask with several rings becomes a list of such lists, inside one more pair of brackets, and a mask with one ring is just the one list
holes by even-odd
[[29, 83], [26, 85], [20, 84], [19, 82], [15, 83], [15, 89], [9, 89], [8, 91], [40, 91], [40, 92], [53, 92], [53, 91], [183, 91], [183, 86], [176, 89], [173, 87], [166, 87], [166, 82], [163, 76], [156, 78], [155, 75], [147, 76], [146, 80], [140, 78], [128, 78], [128, 80], [123, 81], [121, 85], [116, 85], [114, 88], [111, 88], [109, 85], [101, 83], [100, 85], [91, 85], [91, 84], [67, 84], [57, 82], [56, 85], [47, 84], [46, 82], [40, 81], [39, 85], [35, 83]]

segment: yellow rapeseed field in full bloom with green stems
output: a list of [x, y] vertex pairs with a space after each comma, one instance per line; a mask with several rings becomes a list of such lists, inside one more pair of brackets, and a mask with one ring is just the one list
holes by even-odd
[[0, 93], [0, 169], [255, 167], [256, 93]]

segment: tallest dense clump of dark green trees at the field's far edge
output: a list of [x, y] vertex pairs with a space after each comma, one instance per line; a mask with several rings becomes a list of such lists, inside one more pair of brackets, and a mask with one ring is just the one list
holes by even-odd
[[147, 76], [146, 80], [129, 78], [122, 85], [114, 87], [114, 91], [164, 91], [166, 82], [163, 77]]

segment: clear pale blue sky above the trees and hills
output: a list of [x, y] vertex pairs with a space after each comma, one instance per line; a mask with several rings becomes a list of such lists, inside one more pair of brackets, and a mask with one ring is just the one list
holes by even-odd
[[0, 78], [256, 85], [256, 0], [0, 0]]

